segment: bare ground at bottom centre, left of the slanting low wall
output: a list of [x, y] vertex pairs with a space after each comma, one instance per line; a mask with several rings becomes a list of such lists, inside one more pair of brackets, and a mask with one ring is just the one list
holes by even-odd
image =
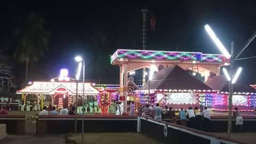
[[[81, 134], [72, 137], [77, 143], [81, 143]], [[158, 144], [156, 140], [146, 137], [140, 133], [85, 133], [84, 143], [86, 144]]]

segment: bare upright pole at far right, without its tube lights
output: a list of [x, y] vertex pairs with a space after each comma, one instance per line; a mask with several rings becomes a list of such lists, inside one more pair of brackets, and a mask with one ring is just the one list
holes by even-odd
[[[231, 79], [234, 77], [234, 41], [231, 42], [231, 57], [230, 57], [230, 68], [229, 76]], [[233, 97], [233, 83], [229, 81], [229, 97], [228, 97], [228, 133], [232, 132], [232, 97]]]

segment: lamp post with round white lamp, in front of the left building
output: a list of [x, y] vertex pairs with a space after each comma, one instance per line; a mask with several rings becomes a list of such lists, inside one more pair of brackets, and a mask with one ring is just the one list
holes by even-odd
[[[83, 143], [84, 142], [84, 73], [85, 73], [85, 62], [84, 62], [83, 58], [80, 57], [80, 56], [75, 57], [75, 60], [77, 62], [79, 62], [79, 65], [80, 65], [81, 62], [83, 64], [83, 97], [82, 97], [82, 102], [83, 102], [83, 108], [82, 108], [82, 143]], [[79, 65], [78, 65], [78, 68], [79, 68]], [[79, 75], [77, 75], [76, 78], [79, 79]], [[87, 98], [86, 98], [86, 100], [87, 100]]]

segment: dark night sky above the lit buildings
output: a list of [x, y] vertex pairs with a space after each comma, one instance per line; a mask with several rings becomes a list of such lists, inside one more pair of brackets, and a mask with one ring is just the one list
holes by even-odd
[[[14, 19], [30, 12], [41, 14], [46, 20], [45, 28], [52, 34], [50, 50], [30, 65], [29, 77], [33, 81], [57, 77], [60, 68], [68, 68], [69, 76], [74, 77], [77, 63], [73, 58], [82, 54], [86, 60], [86, 79], [118, 82], [119, 70], [110, 65], [109, 55], [118, 48], [140, 49], [140, 10], [144, 4], [149, 14], [156, 17], [156, 30], [148, 31], [149, 50], [174, 51], [179, 47], [178, 51], [220, 53], [205, 33], [204, 25], [209, 23], [229, 51], [230, 42], [235, 41], [237, 52], [256, 30], [253, 1], [104, 2], [2, 2], [0, 46], [13, 62], [15, 77], [25, 76], [25, 63], [17, 62], [13, 58], [14, 48], [5, 43], [12, 42]], [[255, 41], [241, 57], [256, 55]], [[236, 62], [236, 67], [244, 68], [238, 83], [255, 83], [254, 62]]]

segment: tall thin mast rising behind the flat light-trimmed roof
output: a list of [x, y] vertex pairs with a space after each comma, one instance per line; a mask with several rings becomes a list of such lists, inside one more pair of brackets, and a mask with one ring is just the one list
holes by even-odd
[[[144, 7], [141, 10], [143, 17], [142, 17], [142, 50], [147, 48], [147, 13], [148, 10]], [[142, 85], [146, 84], [146, 68], [143, 68], [143, 76], [142, 76]]]

